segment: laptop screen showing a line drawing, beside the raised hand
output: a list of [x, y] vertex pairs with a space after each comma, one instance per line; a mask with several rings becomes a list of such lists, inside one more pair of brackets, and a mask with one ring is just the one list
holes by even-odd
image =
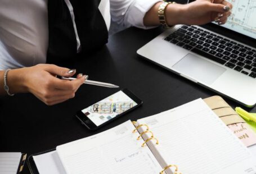
[[232, 15], [224, 28], [250, 36], [256, 39], [256, 1], [227, 0], [233, 4]]

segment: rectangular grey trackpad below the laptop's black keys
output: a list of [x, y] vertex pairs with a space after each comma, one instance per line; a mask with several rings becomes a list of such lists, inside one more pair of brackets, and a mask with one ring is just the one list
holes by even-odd
[[180, 72], [181, 75], [208, 85], [212, 84], [226, 71], [225, 68], [190, 53], [173, 65], [172, 68]]

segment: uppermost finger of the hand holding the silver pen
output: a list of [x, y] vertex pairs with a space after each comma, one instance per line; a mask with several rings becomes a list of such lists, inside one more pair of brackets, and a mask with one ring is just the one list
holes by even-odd
[[59, 75], [64, 77], [71, 77], [75, 74], [75, 69], [70, 70], [69, 68], [64, 68], [56, 65], [46, 65], [44, 68], [47, 72], [53, 75]]

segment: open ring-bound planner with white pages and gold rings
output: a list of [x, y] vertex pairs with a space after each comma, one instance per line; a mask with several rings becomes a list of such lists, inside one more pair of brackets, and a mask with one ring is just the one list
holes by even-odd
[[41, 174], [256, 173], [256, 158], [202, 99], [32, 158]]

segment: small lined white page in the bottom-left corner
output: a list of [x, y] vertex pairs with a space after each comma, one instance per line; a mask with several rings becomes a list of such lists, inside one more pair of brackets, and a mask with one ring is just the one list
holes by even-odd
[[0, 153], [0, 174], [16, 174], [21, 159], [20, 152]]

